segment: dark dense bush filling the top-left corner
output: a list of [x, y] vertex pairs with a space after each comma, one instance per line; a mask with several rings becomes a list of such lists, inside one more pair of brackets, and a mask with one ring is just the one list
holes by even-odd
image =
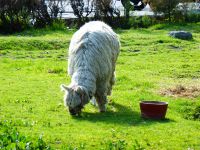
[[40, 0], [0, 0], [0, 30], [15, 32], [23, 30]]

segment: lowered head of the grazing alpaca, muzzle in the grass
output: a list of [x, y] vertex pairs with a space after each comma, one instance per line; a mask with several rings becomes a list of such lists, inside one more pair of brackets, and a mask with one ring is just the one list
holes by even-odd
[[89, 96], [81, 86], [67, 87], [61, 85], [61, 89], [65, 91], [64, 105], [68, 106], [71, 115], [80, 115], [81, 109], [87, 103]]

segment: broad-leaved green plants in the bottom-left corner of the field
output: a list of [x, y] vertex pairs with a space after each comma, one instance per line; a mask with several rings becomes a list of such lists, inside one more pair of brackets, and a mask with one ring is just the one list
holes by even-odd
[[40, 136], [32, 139], [18, 132], [12, 122], [0, 122], [0, 149], [51, 149]]

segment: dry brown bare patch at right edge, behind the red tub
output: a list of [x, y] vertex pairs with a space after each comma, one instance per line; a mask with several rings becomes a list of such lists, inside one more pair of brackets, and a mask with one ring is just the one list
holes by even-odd
[[161, 90], [160, 94], [172, 97], [195, 98], [200, 96], [200, 87], [177, 85], [173, 88]]

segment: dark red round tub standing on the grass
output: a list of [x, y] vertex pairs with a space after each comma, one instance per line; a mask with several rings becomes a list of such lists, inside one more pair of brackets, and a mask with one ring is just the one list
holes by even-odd
[[167, 107], [167, 102], [141, 101], [141, 116], [149, 119], [164, 119], [167, 112]]

